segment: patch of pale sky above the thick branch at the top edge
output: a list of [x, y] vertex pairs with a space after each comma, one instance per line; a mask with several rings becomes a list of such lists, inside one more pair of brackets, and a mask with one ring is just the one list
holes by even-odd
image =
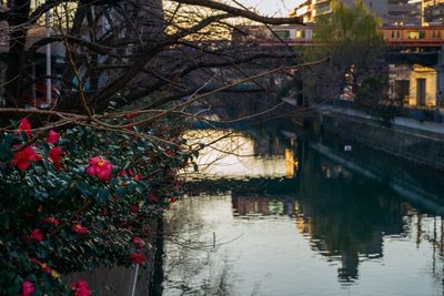
[[240, 0], [246, 7], [253, 7], [266, 16], [287, 17], [302, 0]]

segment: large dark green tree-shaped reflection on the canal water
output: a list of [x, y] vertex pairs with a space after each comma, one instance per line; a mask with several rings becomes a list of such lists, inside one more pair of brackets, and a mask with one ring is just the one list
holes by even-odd
[[321, 254], [340, 256], [341, 282], [353, 280], [360, 258], [383, 256], [384, 235], [404, 234], [404, 204], [389, 187], [315, 153], [302, 161], [296, 226]]

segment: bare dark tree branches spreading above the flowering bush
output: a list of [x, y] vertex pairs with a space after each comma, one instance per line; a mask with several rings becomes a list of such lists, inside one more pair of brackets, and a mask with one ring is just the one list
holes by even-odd
[[[164, 109], [219, 88], [233, 91], [240, 79], [301, 62], [289, 47], [233, 44], [234, 18], [301, 23], [203, 0], [10, 1], [0, 13], [3, 106], [17, 112], [51, 101], [46, 108], [53, 112], [88, 118], [111, 105]], [[3, 113], [9, 114], [3, 125], [11, 113]]]

